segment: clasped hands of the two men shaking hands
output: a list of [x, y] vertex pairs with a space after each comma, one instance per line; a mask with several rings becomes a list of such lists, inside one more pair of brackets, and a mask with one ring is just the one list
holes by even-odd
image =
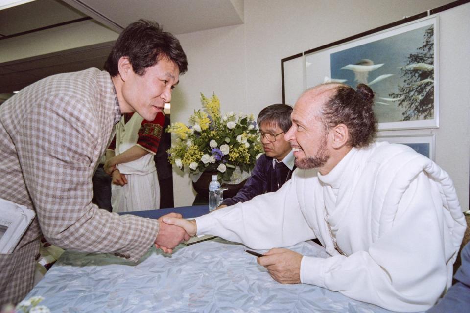
[[178, 213], [169, 213], [158, 219], [160, 224], [155, 247], [164, 253], [172, 253], [173, 248], [196, 234], [195, 220], [185, 220]]

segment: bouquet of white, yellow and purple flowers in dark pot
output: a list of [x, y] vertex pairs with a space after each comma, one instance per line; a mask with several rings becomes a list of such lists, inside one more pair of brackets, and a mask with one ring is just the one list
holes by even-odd
[[222, 116], [215, 94], [206, 98], [201, 93], [201, 103], [203, 110], [194, 110], [189, 126], [174, 123], [167, 129], [176, 135], [167, 151], [170, 163], [182, 170], [189, 168], [193, 176], [217, 172], [224, 181], [231, 180], [237, 167], [249, 173], [263, 152], [253, 114], [229, 112]]

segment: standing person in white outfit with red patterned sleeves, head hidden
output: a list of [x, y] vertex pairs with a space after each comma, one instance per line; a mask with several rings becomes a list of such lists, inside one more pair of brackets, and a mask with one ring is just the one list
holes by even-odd
[[106, 152], [104, 170], [112, 176], [113, 212], [160, 208], [160, 186], [153, 156], [163, 131], [164, 113], [153, 121], [127, 113], [116, 125], [116, 136]]

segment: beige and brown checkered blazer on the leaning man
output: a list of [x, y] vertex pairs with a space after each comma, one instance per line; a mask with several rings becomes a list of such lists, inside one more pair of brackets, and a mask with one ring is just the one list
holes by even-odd
[[41, 234], [56, 246], [138, 261], [158, 222], [91, 203], [92, 176], [120, 118], [108, 72], [40, 80], [0, 106], [0, 197], [36, 211], [13, 254], [0, 254], [0, 307], [32, 288]]

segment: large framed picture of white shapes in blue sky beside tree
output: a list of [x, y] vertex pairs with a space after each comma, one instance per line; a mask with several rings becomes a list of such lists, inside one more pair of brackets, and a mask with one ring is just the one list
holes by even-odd
[[379, 130], [439, 127], [438, 29], [435, 15], [305, 51], [305, 89], [364, 83], [376, 94]]

